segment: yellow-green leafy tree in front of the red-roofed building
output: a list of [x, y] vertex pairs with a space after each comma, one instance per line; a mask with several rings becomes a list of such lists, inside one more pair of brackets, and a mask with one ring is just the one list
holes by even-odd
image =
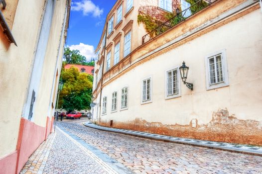
[[93, 76], [80, 73], [76, 67], [61, 72], [64, 87], [58, 107], [67, 111], [90, 109]]

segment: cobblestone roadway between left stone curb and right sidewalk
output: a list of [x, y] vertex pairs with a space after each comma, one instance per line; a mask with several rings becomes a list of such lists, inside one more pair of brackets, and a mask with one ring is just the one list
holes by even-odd
[[105, 132], [82, 123], [57, 125], [138, 174], [262, 174], [262, 157]]

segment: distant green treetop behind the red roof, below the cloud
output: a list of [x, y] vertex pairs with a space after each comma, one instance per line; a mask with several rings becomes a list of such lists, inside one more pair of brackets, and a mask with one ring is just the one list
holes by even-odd
[[63, 58], [66, 64], [84, 65], [87, 63], [86, 57], [82, 56], [79, 50], [70, 50], [69, 47], [65, 48]]

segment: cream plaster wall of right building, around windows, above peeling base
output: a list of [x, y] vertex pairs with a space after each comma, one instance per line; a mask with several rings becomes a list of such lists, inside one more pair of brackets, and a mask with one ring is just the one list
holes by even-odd
[[[128, 123], [138, 118], [167, 125], [189, 125], [192, 119], [197, 119], [198, 124], [208, 124], [219, 108], [227, 108], [229, 115], [234, 114], [238, 119], [262, 121], [261, 28], [262, 13], [257, 9], [134, 67], [103, 88], [102, 98], [108, 96], [108, 111], [101, 115], [101, 122]], [[223, 49], [226, 49], [229, 87], [207, 90], [205, 56]], [[165, 71], [180, 67], [183, 61], [190, 67], [187, 81], [194, 84], [194, 90], [181, 83], [181, 96], [165, 99]], [[152, 102], [140, 104], [141, 80], [148, 76], [152, 77]], [[129, 87], [129, 104], [127, 110], [120, 111], [124, 86]], [[118, 109], [111, 113], [114, 91], [118, 91]]]

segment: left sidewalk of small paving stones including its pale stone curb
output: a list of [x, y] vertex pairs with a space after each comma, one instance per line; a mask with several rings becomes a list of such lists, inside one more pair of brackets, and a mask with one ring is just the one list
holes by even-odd
[[115, 159], [56, 127], [31, 155], [20, 174], [132, 174]]

